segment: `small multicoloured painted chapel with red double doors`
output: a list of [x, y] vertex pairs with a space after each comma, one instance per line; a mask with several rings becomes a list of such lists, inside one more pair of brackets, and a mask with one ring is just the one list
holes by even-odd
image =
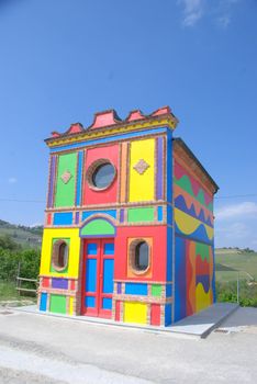
[[215, 302], [217, 185], [168, 106], [47, 138], [42, 312], [169, 326]]

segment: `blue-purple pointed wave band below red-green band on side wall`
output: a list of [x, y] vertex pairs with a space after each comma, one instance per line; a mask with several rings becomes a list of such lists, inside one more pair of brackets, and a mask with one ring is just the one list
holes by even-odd
[[175, 206], [185, 213], [187, 213], [190, 216], [193, 216], [194, 218], [198, 218], [200, 222], [203, 222], [204, 224], [209, 225], [210, 227], [213, 227], [213, 215], [210, 211], [206, 208], [203, 210], [203, 206], [195, 207], [194, 202], [188, 202], [185, 194], [175, 194]]

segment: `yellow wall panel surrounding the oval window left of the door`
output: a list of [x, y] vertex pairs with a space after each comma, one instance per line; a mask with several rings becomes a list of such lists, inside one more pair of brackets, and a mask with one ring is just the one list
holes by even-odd
[[[69, 263], [67, 272], [51, 272], [51, 258], [53, 239], [69, 239]], [[41, 274], [49, 276], [78, 278], [80, 256], [80, 237], [78, 228], [44, 229], [42, 256], [41, 256]]]

